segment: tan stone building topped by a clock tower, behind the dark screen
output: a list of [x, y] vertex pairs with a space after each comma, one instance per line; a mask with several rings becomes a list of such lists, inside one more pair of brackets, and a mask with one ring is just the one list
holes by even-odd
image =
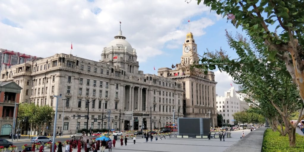
[[159, 68], [158, 76], [176, 80], [182, 84], [184, 94], [182, 97], [182, 111], [184, 117], [208, 118], [211, 126], [217, 126], [216, 115], [216, 83], [214, 73], [208, 71], [204, 74], [201, 69], [191, 68], [198, 62], [197, 45], [192, 33], [187, 33], [183, 44], [181, 63], [172, 64], [171, 68]]

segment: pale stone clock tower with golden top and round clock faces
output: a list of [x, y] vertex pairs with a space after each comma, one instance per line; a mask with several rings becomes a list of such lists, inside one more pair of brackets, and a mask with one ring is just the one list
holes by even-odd
[[185, 43], [183, 44], [183, 54], [181, 56], [182, 64], [193, 64], [197, 62], [199, 57], [197, 55], [197, 45], [193, 39], [191, 32], [187, 33]]

